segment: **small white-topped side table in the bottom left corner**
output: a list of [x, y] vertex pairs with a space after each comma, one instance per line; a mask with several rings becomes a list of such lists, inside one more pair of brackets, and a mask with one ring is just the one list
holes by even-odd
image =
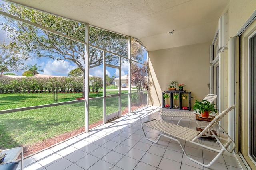
[[20, 170], [23, 170], [23, 147], [6, 149], [3, 150], [3, 152], [7, 153], [7, 155], [5, 156], [4, 161], [1, 163], [1, 165], [9, 162], [15, 162], [20, 155]]

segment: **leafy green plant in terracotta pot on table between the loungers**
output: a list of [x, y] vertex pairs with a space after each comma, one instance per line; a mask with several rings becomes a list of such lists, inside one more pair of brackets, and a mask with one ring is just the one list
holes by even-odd
[[193, 109], [196, 113], [201, 114], [202, 117], [208, 118], [212, 112], [217, 113], [214, 105], [214, 103], [211, 104], [207, 100], [202, 100], [202, 102], [196, 100]]

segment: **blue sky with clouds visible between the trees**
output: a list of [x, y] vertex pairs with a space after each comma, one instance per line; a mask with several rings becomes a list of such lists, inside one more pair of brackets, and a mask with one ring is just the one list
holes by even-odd
[[[1, 1], [0, 1], [1, 4]], [[0, 23], [4, 22], [4, 18], [0, 16]], [[2, 31], [2, 27], [0, 25], [0, 43], [5, 41], [6, 43], [10, 42], [11, 40], [7, 38], [6, 34]], [[147, 55], [146, 55], [146, 50], [144, 51], [144, 60], [146, 60]], [[44, 72], [39, 72], [40, 74], [46, 74], [46, 75], [55, 75], [55, 76], [68, 76], [68, 73], [77, 68], [76, 64], [62, 60], [62, 61], [57, 61], [54, 59], [49, 59], [46, 57], [41, 57], [40, 59], [32, 59], [29, 58], [26, 61], [23, 61], [25, 65], [34, 65], [37, 64], [38, 66], [41, 66], [40, 69], [44, 70]], [[19, 70], [19, 71], [11, 71], [12, 73], [21, 76], [22, 73], [25, 70]], [[125, 75], [128, 73], [128, 63], [125, 63], [122, 65], [121, 68], [121, 76]], [[89, 74], [93, 76], [100, 76], [103, 77], [103, 66], [98, 66], [94, 68], [90, 68]], [[119, 76], [119, 70], [115, 68], [107, 68], [106, 69], [106, 74], [109, 77]]]

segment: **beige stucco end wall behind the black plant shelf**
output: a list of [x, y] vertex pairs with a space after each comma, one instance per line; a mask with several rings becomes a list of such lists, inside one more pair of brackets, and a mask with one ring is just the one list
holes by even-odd
[[209, 94], [209, 43], [175, 47], [149, 52], [150, 105], [162, 104], [162, 91], [168, 90], [171, 80], [184, 84], [190, 91], [191, 106]]

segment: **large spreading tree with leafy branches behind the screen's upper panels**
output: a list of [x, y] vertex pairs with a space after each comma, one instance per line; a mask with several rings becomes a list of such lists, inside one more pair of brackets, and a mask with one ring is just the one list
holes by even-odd
[[[74, 37], [80, 41], [84, 41], [85, 39], [85, 25], [83, 23], [66, 20], [8, 3], [3, 5], [3, 10], [24, 20]], [[24, 48], [25, 53], [29, 53], [33, 57], [68, 60], [76, 64], [78, 68], [82, 70], [85, 79], [85, 68], [87, 66], [85, 66], [85, 49], [83, 43], [66, 39], [54, 33], [23, 24], [20, 21], [14, 21], [10, 18], [6, 18], [6, 20], [6, 23], [2, 23], [4, 31], [8, 32], [8, 36], [20, 47]], [[90, 44], [122, 56], [128, 56], [128, 37], [95, 27], [90, 27], [89, 33]], [[102, 65], [103, 54], [103, 51], [90, 47], [89, 68]], [[141, 56], [134, 55], [134, 57]], [[115, 55], [107, 53], [105, 61], [114, 64], [118, 63], [119, 59]], [[83, 88], [83, 97], [84, 92], [85, 89]]]

